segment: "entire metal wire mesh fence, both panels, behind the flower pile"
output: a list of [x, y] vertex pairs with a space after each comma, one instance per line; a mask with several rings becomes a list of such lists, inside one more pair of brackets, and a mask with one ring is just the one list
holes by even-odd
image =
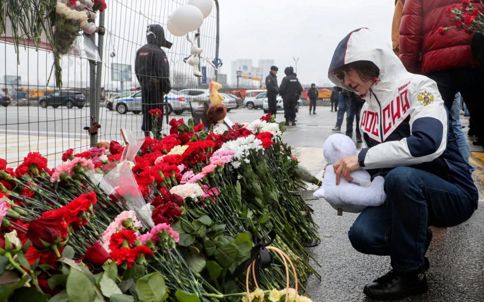
[[[204, 77], [196, 78], [192, 67], [184, 62], [190, 55], [187, 36], [176, 37], [166, 29], [168, 16], [185, 2], [107, 0], [107, 9], [96, 20], [106, 30], [104, 36], [95, 34], [101, 62], [91, 65], [86, 58], [63, 56], [61, 90], [55, 87], [51, 75], [53, 58], [49, 50], [20, 46], [17, 62], [14, 44], [4, 37], [7, 41], [0, 41], [0, 105], [4, 105], [4, 94], [11, 103], [0, 106], [0, 158], [17, 166], [29, 152], [39, 152], [52, 166], [60, 162], [68, 148], [80, 152], [97, 141], [122, 140], [120, 128], [141, 132], [139, 110], [128, 108], [125, 112], [120, 104], [126, 100], [141, 104], [135, 56], [146, 44], [149, 24], [162, 25], [166, 39], [173, 43], [170, 49], [163, 49], [170, 65], [172, 92], [168, 96], [174, 98], [170, 100], [169, 119], [190, 118], [190, 106], [184, 104], [197, 90], [207, 93], [208, 83], [216, 80], [216, 71], [201, 60]], [[217, 8], [215, 1], [212, 13], [199, 29], [199, 47], [209, 61], [218, 57]], [[78, 102], [77, 97], [82, 96], [85, 102]], [[107, 108], [110, 105], [112, 110]], [[90, 137], [83, 128], [93, 122], [99, 122], [101, 128], [98, 135]], [[163, 125], [166, 132], [165, 119]]]

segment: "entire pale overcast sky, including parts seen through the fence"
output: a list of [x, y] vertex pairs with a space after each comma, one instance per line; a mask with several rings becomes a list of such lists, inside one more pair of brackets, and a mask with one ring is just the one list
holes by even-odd
[[[391, 43], [393, 0], [219, 0], [219, 3], [219, 56], [224, 62], [220, 73], [226, 73], [228, 81], [233, 71], [232, 60], [250, 58], [257, 65], [258, 59], [274, 59], [281, 68], [280, 80], [284, 67], [294, 66], [292, 57], [295, 56], [299, 57], [297, 74], [303, 84], [330, 83], [327, 70], [333, 51], [351, 30], [368, 27]], [[113, 35], [105, 36], [105, 47], [106, 52], [114, 48], [117, 55], [114, 58], [105, 55], [106, 66], [112, 62], [134, 64], [136, 49], [145, 43], [146, 25], [159, 23], [166, 28], [167, 16], [181, 5], [166, 0], [110, 0], [108, 4], [106, 28]], [[140, 15], [140, 12], [144, 15]], [[201, 28], [202, 55], [209, 58], [215, 53], [214, 16], [215, 10], [211, 17], [205, 19]], [[166, 50], [171, 70], [193, 77], [190, 75], [191, 67], [183, 62], [183, 57], [189, 55], [190, 49], [186, 38], [174, 37], [169, 33], [166, 35], [173, 42], [173, 47]], [[36, 53], [31, 49], [28, 51], [29, 60], [27, 52], [22, 50], [21, 64], [17, 65], [13, 47], [3, 43], [0, 45], [0, 57], [3, 58], [0, 60], [0, 81], [3, 81], [5, 73], [18, 74], [22, 76], [23, 84], [44, 85], [52, 66], [51, 55], [42, 51]], [[87, 81], [89, 69], [85, 60], [66, 57], [62, 65], [65, 84]], [[103, 71], [104, 85], [118, 87], [119, 82], [111, 81], [109, 73], [108, 68]], [[207, 73], [210, 79], [213, 69], [208, 67]]]

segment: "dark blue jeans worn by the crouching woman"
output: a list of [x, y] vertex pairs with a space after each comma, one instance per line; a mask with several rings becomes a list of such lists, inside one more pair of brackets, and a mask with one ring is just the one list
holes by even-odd
[[384, 189], [385, 203], [364, 209], [348, 237], [361, 253], [390, 255], [392, 267], [402, 272], [423, 266], [427, 226], [454, 226], [475, 210], [457, 186], [423, 170], [395, 168]]

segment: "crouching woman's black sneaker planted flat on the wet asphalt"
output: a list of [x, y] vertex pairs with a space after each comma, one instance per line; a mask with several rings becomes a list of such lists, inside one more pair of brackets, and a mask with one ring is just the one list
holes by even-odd
[[422, 269], [411, 272], [391, 270], [372, 283], [365, 285], [363, 292], [375, 300], [398, 300], [429, 290], [425, 271]]

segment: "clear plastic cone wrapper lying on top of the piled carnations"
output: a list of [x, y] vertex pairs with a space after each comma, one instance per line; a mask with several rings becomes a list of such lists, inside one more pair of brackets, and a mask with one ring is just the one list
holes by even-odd
[[151, 218], [150, 204], [145, 203], [143, 195], [127, 161], [102, 177], [99, 187], [127, 210], [133, 210], [146, 228], [155, 226]]

